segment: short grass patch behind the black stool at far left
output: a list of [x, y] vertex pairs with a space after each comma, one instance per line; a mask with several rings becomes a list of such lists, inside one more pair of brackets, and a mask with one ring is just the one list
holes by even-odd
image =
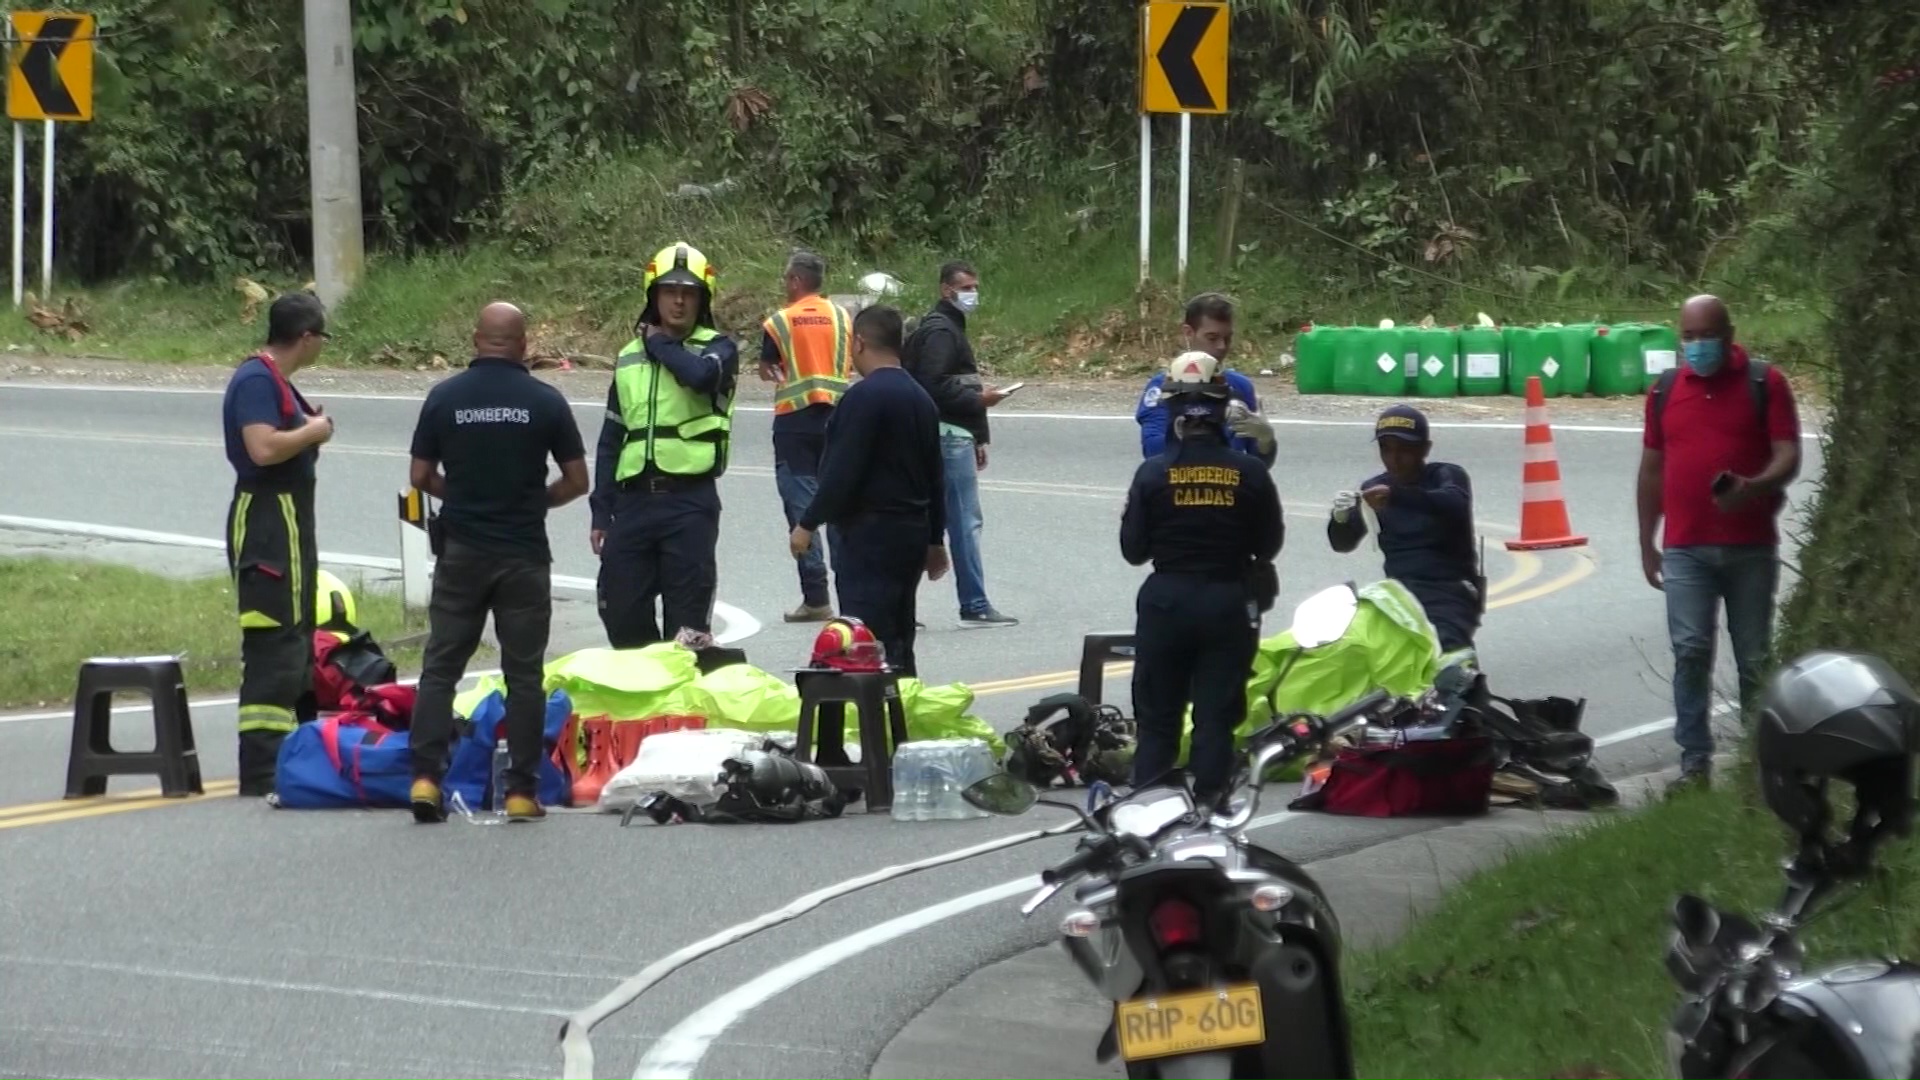
[[[173, 578], [60, 557], [0, 557], [0, 709], [73, 701], [92, 655], [184, 653], [188, 694], [240, 686], [240, 628], [225, 575]], [[426, 613], [405, 615], [399, 594], [355, 588], [359, 623], [401, 675], [419, 673]], [[424, 640], [424, 638], [422, 638]]]

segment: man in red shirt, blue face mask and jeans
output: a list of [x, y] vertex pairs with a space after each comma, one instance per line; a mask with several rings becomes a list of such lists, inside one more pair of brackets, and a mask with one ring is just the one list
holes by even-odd
[[1667, 594], [1680, 784], [1693, 784], [1711, 780], [1720, 603], [1741, 705], [1761, 686], [1780, 577], [1776, 517], [1799, 475], [1801, 430], [1786, 377], [1734, 342], [1718, 298], [1680, 307], [1680, 342], [1686, 367], [1663, 373], [1647, 394], [1638, 503], [1640, 561], [1647, 584]]

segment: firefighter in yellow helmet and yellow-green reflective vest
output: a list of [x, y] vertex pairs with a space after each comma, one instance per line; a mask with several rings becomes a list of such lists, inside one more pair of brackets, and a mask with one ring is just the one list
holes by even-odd
[[[712, 632], [720, 492], [739, 346], [714, 327], [718, 277], [693, 244], [660, 248], [647, 307], [620, 350], [593, 455], [593, 553], [607, 642]], [[660, 611], [655, 613], [655, 601]]]

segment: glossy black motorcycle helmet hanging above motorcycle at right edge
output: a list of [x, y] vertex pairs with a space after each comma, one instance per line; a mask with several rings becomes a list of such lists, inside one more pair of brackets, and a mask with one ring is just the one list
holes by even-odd
[[1853, 784], [1862, 826], [1907, 836], [1920, 696], [1885, 661], [1816, 650], [1766, 684], [1753, 736], [1766, 807], [1801, 838], [1826, 832], [1826, 782]]

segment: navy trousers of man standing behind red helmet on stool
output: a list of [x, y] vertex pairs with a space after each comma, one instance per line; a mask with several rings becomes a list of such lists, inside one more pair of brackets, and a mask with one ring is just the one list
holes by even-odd
[[841, 615], [866, 623], [887, 650], [887, 665], [918, 678], [914, 601], [927, 573], [927, 519], [868, 515], [829, 525], [828, 532]]

